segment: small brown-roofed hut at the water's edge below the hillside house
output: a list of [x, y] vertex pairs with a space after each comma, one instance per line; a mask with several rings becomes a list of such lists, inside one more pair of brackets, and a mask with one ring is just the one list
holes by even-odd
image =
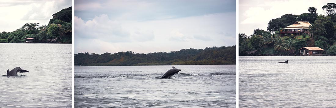
[[322, 52], [324, 49], [320, 47], [302, 47], [299, 49], [300, 50], [300, 55], [303, 56], [322, 56]]

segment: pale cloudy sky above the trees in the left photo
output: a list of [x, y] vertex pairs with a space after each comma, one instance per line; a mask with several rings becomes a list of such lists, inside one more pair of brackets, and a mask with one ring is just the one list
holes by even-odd
[[52, 14], [71, 6], [71, 0], [0, 0], [0, 32], [13, 32], [26, 23], [48, 25]]

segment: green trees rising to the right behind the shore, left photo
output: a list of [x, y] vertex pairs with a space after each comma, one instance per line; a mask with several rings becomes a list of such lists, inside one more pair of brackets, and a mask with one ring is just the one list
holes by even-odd
[[0, 43], [25, 43], [25, 38], [34, 38], [35, 43], [71, 43], [71, 8], [53, 14], [48, 25], [27, 23], [13, 32], [2, 32]]

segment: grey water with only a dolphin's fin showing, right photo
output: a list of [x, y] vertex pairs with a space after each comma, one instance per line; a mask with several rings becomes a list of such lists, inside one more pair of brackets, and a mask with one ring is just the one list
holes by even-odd
[[239, 56], [239, 108], [259, 107], [335, 108], [336, 56]]

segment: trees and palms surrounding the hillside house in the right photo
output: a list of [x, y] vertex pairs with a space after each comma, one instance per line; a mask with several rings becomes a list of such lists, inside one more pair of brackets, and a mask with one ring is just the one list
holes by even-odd
[[[239, 34], [239, 55], [298, 55], [299, 48], [320, 47], [324, 54], [336, 55], [336, 5], [328, 3], [323, 6], [326, 15], [318, 15], [317, 9], [309, 7], [309, 13], [300, 15], [285, 14], [269, 21], [267, 31], [255, 29], [253, 34]], [[280, 36], [283, 28], [297, 21], [308, 21], [312, 24], [307, 33]]]

